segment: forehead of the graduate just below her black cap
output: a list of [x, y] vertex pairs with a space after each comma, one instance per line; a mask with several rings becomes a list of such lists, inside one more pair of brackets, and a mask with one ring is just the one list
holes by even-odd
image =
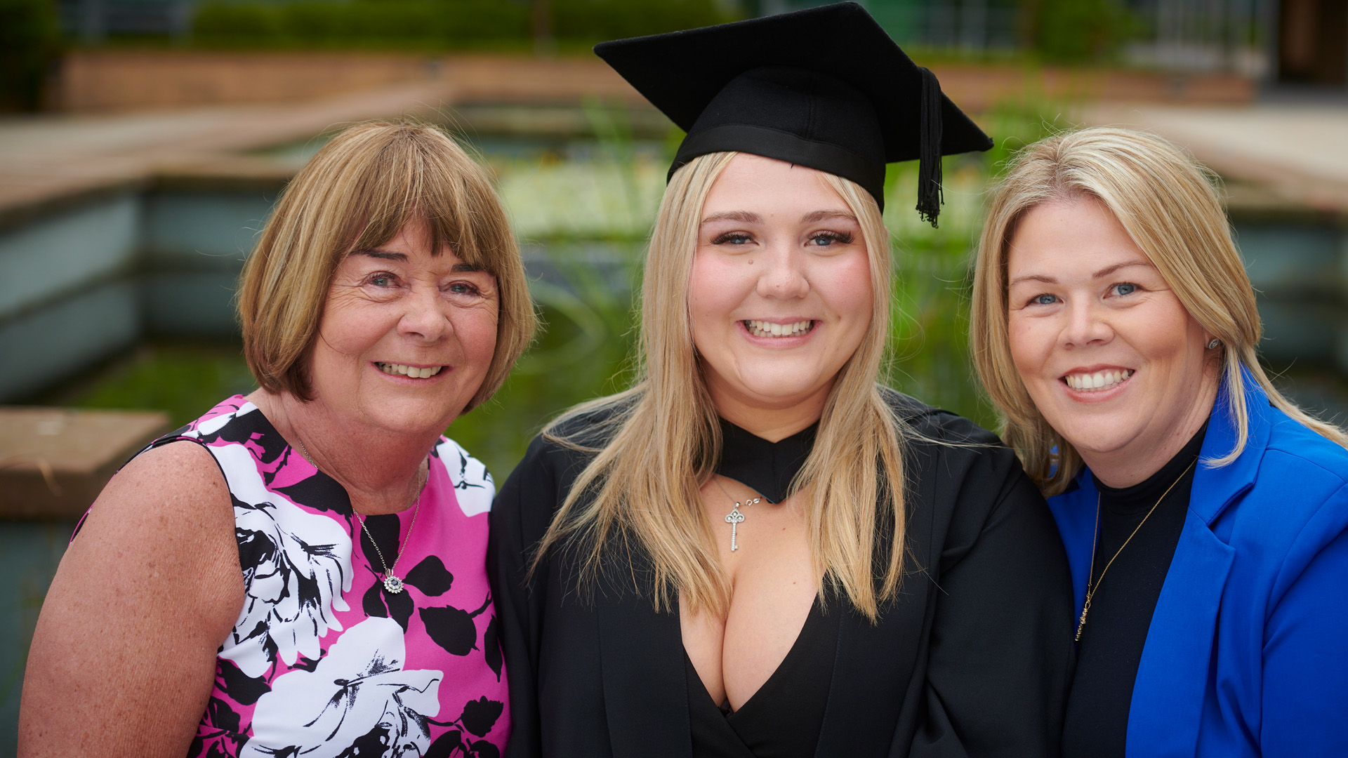
[[704, 216], [748, 210], [790, 217], [821, 209], [848, 210], [822, 171], [748, 152], [731, 159], [702, 205]]

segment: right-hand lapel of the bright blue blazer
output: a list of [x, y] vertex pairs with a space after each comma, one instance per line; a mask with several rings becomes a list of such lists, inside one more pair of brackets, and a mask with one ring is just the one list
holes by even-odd
[[1225, 386], [1213, 406], [1193, 475], [1189, 515], [1138, 664], [1128, 712], [1128, 755], [1193, 755], [1197, 750], [1217, 611], [1235, 558], [1235, 549], [1213, 533], [1213, 522], [1254, 486], [1271, 428], [1268, 397], [1248, 372], [1244, 399], [1250, 417], [1246, 449], [1221, 468], [1201, 461], [1229, 453], [1236, 442]]

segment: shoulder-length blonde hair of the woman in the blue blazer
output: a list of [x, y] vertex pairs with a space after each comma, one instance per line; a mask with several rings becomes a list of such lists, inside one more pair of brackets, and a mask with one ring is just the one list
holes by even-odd
[[[1250, 413], [1246, 376], [1279, 410], [1340, 445], [1348, 436], [1285, 398], [1259, 366], [1263, 333], [1213, 178], [1192, 155], [1155, 135], [1097, 127], [1060, 134], [1022, 150], [996, 186], [979, 241], [969, 322], [973, 364], [1004, 421], [1003, 438], [1046, 495], [1062, 492], [1081, 471], [1080, 453], [1035, 407], [1011, 359], [1007, 336], [1007, 255], [1016, 225], [1042, 204], [1095, 198], [1119, 220], [1157, 267], [1189, 316], [1221, 341], [1225, 401], [1236, 444], [1205, 461], [1225, 465], [1246, 448]], [[1054, 452], [1057, 450], [1057, 452]]]

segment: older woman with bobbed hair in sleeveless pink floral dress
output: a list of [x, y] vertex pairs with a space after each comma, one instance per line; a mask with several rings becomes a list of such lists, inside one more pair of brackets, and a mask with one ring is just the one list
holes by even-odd
[[34, 635], [19, 753], [495, 755], [493, 484], [441, 437], [534, 330], [488, 177], [431, 127], [341, 132], [278, 202], [239, 308], [260, 388], [89, 510]]

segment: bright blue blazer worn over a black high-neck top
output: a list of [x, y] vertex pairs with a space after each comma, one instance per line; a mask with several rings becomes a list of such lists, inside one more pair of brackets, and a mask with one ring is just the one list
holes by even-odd
[[[1348, 755], [1348, 450], [1268, 403], [1246, 374], [1250, 438], [1198, 464], [1128, 711], [1130, 757]], [[1201, 460], [1236, 432], [1219, 392]], [[1077, 615], [1096, 488], [1049, 499]]]

